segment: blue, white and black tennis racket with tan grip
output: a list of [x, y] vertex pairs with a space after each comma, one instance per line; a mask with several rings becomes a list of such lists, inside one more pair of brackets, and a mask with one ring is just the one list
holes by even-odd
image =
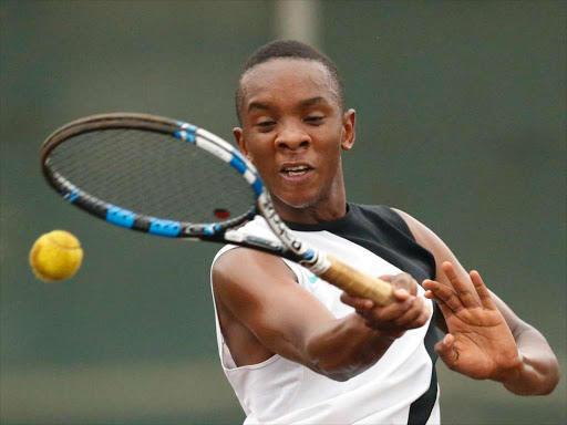
[[[94, 115], [51, 134], [41, 166], [64, 199], [113, 225], [257, 249], [298, 262], [352, 297], [394, 302], [390, 283], [293, 235], [254, 165], [206, 129], [147, 114]], [[238, 230], [258, 215], [277, 240]]]

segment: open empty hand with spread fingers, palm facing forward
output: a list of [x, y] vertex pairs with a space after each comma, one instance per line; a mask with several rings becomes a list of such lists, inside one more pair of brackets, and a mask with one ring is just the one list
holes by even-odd
[[520, 365], [518, 350], [481, 274], [470, 273], [473, 293], [470, 282], [457, 277], [453, 265], [444, 262], [442, 270], [450, 286], [423, 281], [425, 297], [439, 304], [449, 329], [435, 351], [453, 371], [475, 380], [506, 381]]

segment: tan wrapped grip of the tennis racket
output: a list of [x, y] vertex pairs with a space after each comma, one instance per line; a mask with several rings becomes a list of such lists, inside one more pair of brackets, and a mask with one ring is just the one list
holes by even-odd
[[365, 298], [380, 305], [395, 302], [390, 283], [372, 278], [332, 256], [328, 255], [327, 260], [331, 267], [319, 274], [321, 279], [342, 289], [351, 297]]

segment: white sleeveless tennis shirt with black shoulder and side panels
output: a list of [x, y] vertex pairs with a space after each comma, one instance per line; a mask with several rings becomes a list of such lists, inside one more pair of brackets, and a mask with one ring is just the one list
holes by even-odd
[[[368, 274], [405, 271], [417, 282], [435, 278], [431, 252], [415, 242], [405, 221], [388, 207], [348, 204], [347, 215], [337, 220], [288, 226], [302, 240]], [[261, 217], [244, 229], [277, 239]], [[236, 247], [224, 247], [214, 261], [231, 248]], [[298, 284], [337, 319], [354, 311], [340, 301], [338, 288], [295, 262], [284, 261], [295, 272]], [[423, 292], [419, 287], [419, 293]], [[215, 319], [221, 366], [247, 415], [245, 424], [440, 423], [433, 350], [437, 339], [431, 317], [425, 325], [398, 339], [373, 366], [346, 382], [333, 381], [278, 354], [262, 363], [238, 367], [223, 338], [216, 307]]]

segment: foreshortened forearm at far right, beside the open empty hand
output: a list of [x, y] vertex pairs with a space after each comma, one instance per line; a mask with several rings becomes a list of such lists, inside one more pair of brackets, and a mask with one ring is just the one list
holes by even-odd
[[534, 328], [515, 332], [519, 366], [511, 371], [501, 382], [517, 395], [545, 395], [551, 393], [559, 382], [559, 365], [545, 338]]

